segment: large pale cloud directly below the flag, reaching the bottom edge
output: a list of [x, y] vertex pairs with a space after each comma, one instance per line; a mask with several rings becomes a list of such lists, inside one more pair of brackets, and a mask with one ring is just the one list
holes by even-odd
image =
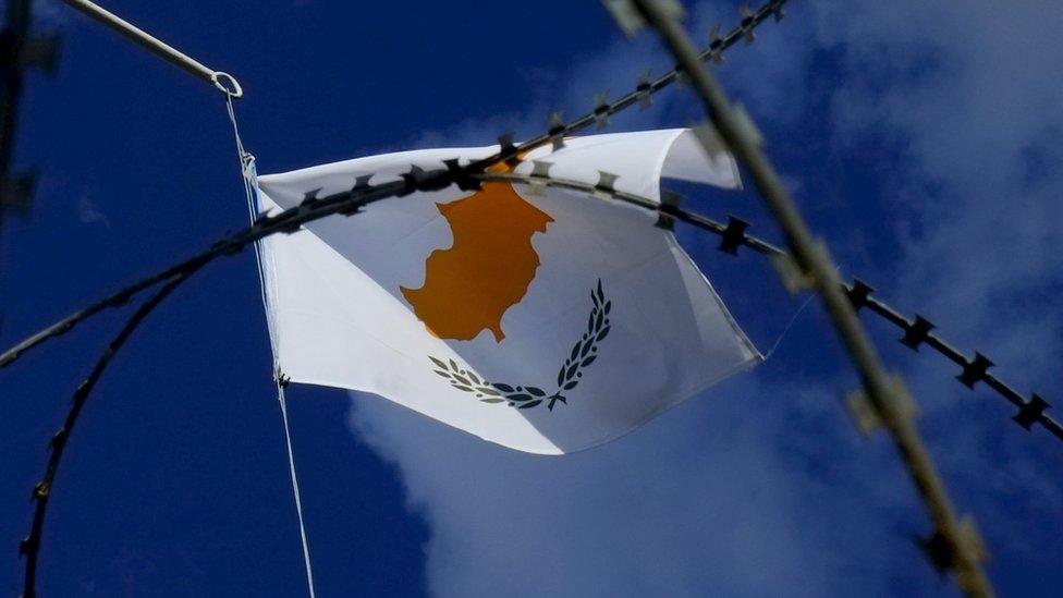
[[[889, 570], [917, 558], [911, 547], [875, 523], [859, 492], [826, 488], [779, 454], [789, 410], [750, 418], [741, 403], [769, 389], [731, 387], [560, 459], [503, 451], [372, 398], [357, 401], [352, 422], [400, 467], [411, 508], [431, 526], [436, 595], [822, 596], [855, 577], [884, 591]], [[848, 558], [856, 528], [892, 554]]]

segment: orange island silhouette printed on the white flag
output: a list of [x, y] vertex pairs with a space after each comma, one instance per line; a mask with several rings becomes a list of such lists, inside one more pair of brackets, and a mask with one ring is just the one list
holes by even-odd
[[553, 218], [510, 183], [484, 183], [480, 191], [436, 207], [454, 243], [425, 260], [424, 286], [400, 290], [433, 335], [468, 341], [487, 329], [502, 342], [502, 315], [524, 298], [539, 267], [532, 236], [545, 233]]

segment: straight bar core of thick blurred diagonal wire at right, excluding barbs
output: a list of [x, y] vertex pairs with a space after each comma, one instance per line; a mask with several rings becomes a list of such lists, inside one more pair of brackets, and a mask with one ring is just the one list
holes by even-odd
[[760, 152], [758, 135], [752, 123], [731, 108], [716, 78], [704, 69], [697, 49], [676, 20], [676, 12], [659, 0], [633, 0], [646, 20], [658, 29], [701, 98], [705, 110], [738, 161], [749, 171], [790, 246], [802, 272], [808, 276], [819, 293], [838, 334], [859, 373], [868, 400], [893, 437], [894, 443], [912, 475], [938, 535], [950, 549], [950, 565], [957, 571], [960, 587], [972, 596], [991, 596], [989, 581], [979, 565], [977, 550], [962, 532], [944, 485], [938, 477], [930, 455], [915, 426], [901, 404], [897, 385], [883, 370], [877, 352], [868, 340], [835, 273], [830, 257], [817, 242], [798, 213], [774, 169]]

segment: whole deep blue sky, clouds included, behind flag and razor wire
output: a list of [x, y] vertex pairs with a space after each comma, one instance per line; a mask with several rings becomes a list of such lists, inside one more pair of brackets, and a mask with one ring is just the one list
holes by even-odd
[[[237, 75], [259, 170], [538, 132], [671, 61], [596, 2], [301, 0], [107, 3]], [[919, 312], [998, 374], [1058, 402], [1063, 358], [1063, 13], [1050, 1], [795, 2], [719, 70], [768, 138], [846, 276]], [[7, 346], [245, 223], [220, 97], [52, 0], [59, 75], [29, 80], [17, 162], [42, 178], [4, 222]], [[705, 2], [689, 25], [734, 23]], [[611, 130], [697, 122], [688, 90]], [[684, 186], [774, 239], [757, 198]], [[680, 231], [761, 347], [801, 300], [756, 256]], [[19, 590], [29, 488], [70, 394], [120, 325], [108, 314], [0, 374], [0, 591]], [[283, 432], [253, 256], [211, 266], [154, 315], [100, 383], [49, 509], [46, 595], [300, 595]], [[978, 522], [1002, 595], [1063, 583], [1063, 466], [985, 389], [868, 321], [920, 430]], [[375, 396], [289, 393], [321, 596], [942, 595], [928, 532], [884, 438], [840, 406], [855, 386], [817, 307], [752, 374], [606, 447], [562, 459], [478, 441]]]

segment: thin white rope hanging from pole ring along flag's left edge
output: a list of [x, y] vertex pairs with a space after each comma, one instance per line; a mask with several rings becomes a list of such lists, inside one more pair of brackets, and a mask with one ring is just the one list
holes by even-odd
[[[247, 216], [252, 224], [258, 217], [257, 183], [255, 182], [255, 157], [244, 150], [244, 142], [240, 138], [240, 127], [236, 125], [236, 112], [233, 110], [233, 95], [225, 94], [227, 108], [229, 110], [229, 122], [232, 123], [233, 137], [236, 139], [236, 156], [240, 159], [240, 170], [244, 181], [244, 198], [247, 202]], [[273, 353], [273, 380], [277, 382], [277, 402], [281, 406], [281, 418], [284, 422], [284, 442], [288, 447], [288, 466], [292, 477], [292, 495], [295, 497], [295, 512], [300, 522], [300, 539], [303, 542], [303, 563], [306, 565], [306, 589], [310, 598], [314, 595], [314, 570], [310, 568], [310, 546], [306, 540], [306, 525], [303, 522], [303, 499], [298, 489], [298, 476], [295, 475], [295, 453], [292, 450], [292, 432], [288, 423], [288, 401], [284, 398], [283, 375], [280, 370], [280, 363], [277, 361], [277, 341], [274, 339], [272, 312], [269, 308], [269, 301], [266, 293], [265, 274], [265, 251], [262, 241], [255, 242], [255, 263], [258, 269], [258, 282], [261, 290], [262, 308], [266, 310], [266, 326], [269, 330], [269, 345]]]

